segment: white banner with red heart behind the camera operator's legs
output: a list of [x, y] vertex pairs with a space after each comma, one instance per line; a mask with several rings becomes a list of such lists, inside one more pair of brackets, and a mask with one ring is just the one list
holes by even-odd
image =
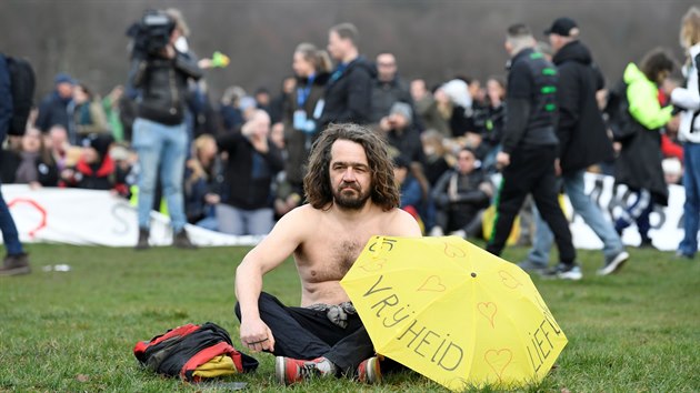
[[[41, 188], [3, 184], [2, 195], [10, 208], [22, 242], [133, 246], [139, 236], [137, 211], [123, 198], [109, 191]], [[170, 220], [151, 213], [151, 245], [172, 243]], [[197, 245], [252, 245], [260, 236], [233, 236], [187, 225]]]

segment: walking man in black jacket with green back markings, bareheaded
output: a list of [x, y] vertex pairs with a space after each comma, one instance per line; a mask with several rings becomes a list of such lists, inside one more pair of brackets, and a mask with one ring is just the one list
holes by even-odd
[[496, 157], [503, 180], [497, 196], [497, 219], [487, 250], [499, 255], [506, 245], [513, 220], [528, 193], [542, 218], [554, 232], [561, 263], [551, 275], [580, 280], [571, 231], [557, 198], [558, 140], [557, 70], [542, 53], [534, 51], [536, 41], [524, 24], [508, 29], [506, 50], [511, 56], [508, 75], [508, 118], [503, 130], [503, 148]]

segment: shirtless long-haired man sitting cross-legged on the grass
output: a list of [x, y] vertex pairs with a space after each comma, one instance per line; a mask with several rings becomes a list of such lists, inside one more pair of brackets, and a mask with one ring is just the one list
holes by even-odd
[[[284, 214], [236, 271], [240, 339], [274, 354], [276, 376], [381, 377], [372, 342], [340, 280], [371, 236], [421, 235], [399, 209], [386, 143], [357, 124], [332, 124], [313, 145], [303, 185], [308, 204]], [[262, 291], [262, 276], [293, 254], [301, 306]]]

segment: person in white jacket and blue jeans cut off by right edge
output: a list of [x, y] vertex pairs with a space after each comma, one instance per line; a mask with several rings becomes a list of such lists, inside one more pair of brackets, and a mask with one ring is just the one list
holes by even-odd
[[683, 16], [680, 30], [681, 46], [688, 54], [688, 62], [683, 68], [687, 82], [686, 88], [677, 88], [671, 92], [671, 102], [684, 109], [681, 112], [679, 139], [683, 142], [683, 159], [686, 173], [683, 188], [686, 203], [683, 203], [683, 240], [678, 245], [676, 255], [692, 259], [698, 252], [698, 228], [700, 226], [700, 8], [691, 7]]

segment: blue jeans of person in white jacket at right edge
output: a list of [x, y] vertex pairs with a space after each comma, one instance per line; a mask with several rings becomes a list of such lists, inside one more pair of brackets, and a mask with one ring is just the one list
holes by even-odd
[[683, 188], [686, 203], [683, 203], [683, 240], [678, 251], [692, 256], [698, 252], [698, 226], [700, 216], [700, 143], [683, 144]]

